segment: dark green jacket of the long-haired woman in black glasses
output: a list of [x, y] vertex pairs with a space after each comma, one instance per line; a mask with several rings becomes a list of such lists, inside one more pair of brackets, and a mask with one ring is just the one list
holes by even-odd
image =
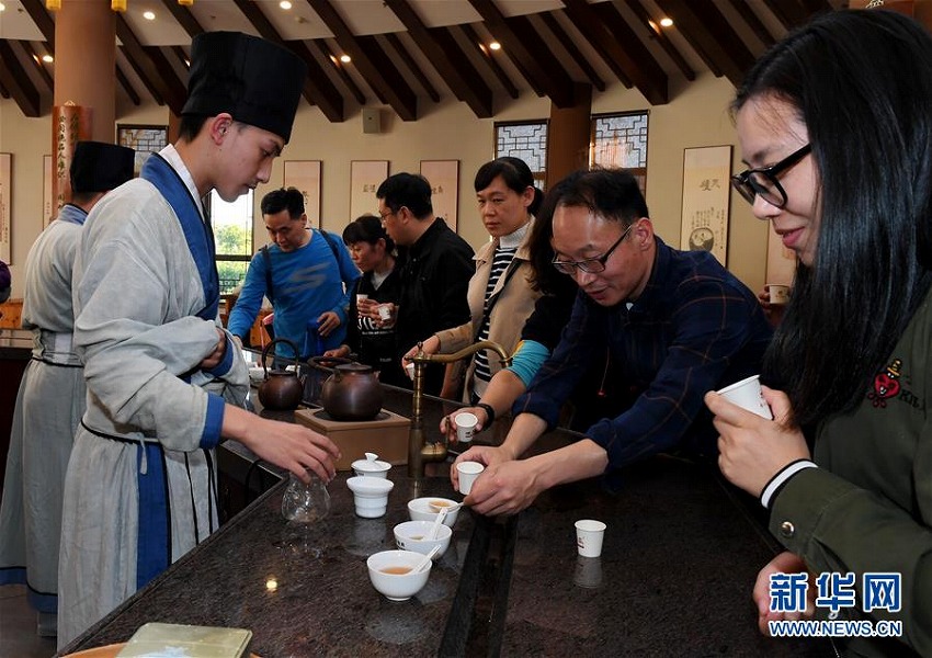
[[[852, 638], [851, 656], [932, 656], [932, 300], [916, 311], [852, 413], [816, 439], [819, 468], [795, 475], [772, 503], [770, 530], [818, 576], [856, 575], [856, 605], [839, 619], [901, 620], [898, 640]], [[901, 610], [865, 614], [862, 575], [902, 575]], [[844, 643], [841, 643], [844, 644]]]

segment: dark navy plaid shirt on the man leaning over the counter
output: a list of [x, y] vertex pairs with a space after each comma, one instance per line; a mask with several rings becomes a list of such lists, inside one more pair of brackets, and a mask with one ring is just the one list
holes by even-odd
[[534, 413], [549, 428], [592, 360], [611, 351], [613, 376], [633, 404], [586, 435], [609, 453], [609, 468], [672, 449], [716, 451], [703, 396], [760, 372], [771, 328], [754, 294], [705, 251], [678, 251], [657, 240], [650, 280], [634, 302], [611, 308], [579, 293], [560, 342], [513, 413]]

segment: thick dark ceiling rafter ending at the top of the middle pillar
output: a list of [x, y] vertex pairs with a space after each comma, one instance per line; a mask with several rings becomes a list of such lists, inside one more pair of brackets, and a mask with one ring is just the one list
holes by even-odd
[[505, 19], [492, 0], [469, 0], [469, 3], [482, 16], [486, 30], [502, 45], [505, 55], [530, 77], [528, 82], [536, 81], [536, 87], [557, 107], [575, 104], [572, 80], [526, 18]]

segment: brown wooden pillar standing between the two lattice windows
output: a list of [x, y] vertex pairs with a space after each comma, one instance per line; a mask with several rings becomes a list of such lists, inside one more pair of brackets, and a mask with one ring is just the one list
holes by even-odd
[[571, 107], [550, 105], [547, 131], [547, 189], [577, 169], [589, 167], [592, 86], [577, 83]]

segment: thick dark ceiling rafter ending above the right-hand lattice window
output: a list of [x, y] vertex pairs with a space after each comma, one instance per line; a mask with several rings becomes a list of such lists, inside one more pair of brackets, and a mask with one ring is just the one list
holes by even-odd
[[[564, 4], [566, 14], [580, 27], [605, 64], [616, 75], [621, 70], [618, 79], [623, 83], [627, 87], [634, 83], [651, 105], [669, 102], [667, 73], [620, 15], [609, 30], [599, 12], [593, 11], [595, 5], [586, 0], [564, 0]], [[614, 7], [611, 9], [615, 11]]]

